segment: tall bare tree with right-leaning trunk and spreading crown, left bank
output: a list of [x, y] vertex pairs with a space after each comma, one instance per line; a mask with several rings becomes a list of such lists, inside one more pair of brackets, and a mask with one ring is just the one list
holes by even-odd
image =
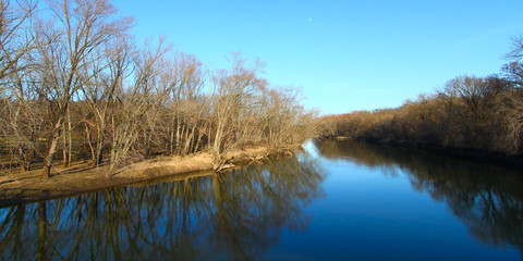
[[47, 98], [56, 116], [51, 119], [52, 137], [45, 159], [44, 177], [49, 177], [62, 124], [66, 121], [70, 101], [94, 74], [85, 75], [86, 67], [100, 59], [95, 50], [127, 30], [130, 18], [114, 17], [115, 9], [108, 0], [53, 0], [49, 8], [57, 20], [59, 41], [41, 48], [45, 66], [42, 77], [48, 86]]

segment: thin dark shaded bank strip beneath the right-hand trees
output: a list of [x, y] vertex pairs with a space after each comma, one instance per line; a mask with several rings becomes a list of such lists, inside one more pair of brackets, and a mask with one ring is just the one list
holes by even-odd
[[339, 141], [353, 139], [353, 140], [363, 140], [370, 144], [379, 144], [379, 145], [386, 145], [386, 146], [392, 146], [392, 147], [421, 149], [431, 153], [453, 157], [453, 158], [463, 159], [463, 160], [490, 163], [490, 164], [509, 167], [509, 169], [523, 172], [523, 158], [502, 154], [502, 153], [496, 153], [496, 152], [489, 152], [489, 151], [483, 151], [477, 149], [440, 147], [440, 146], [433, 146], [433, 145], [426, 145], [426, 144], [416, 144], [408, 140], [377, 140], [377, 139], [369, 139], [369, 138], [351, 138], [346, 136], [320, 137], [320, 139], [336, 139]]

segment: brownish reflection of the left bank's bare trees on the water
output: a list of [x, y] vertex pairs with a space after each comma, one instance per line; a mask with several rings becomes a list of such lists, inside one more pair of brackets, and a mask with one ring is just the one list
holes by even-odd
[[254, 259], [283, 228], [306, 229], [323, 197], [311, 157], [231, 173], [0, 209], [3, 260]]

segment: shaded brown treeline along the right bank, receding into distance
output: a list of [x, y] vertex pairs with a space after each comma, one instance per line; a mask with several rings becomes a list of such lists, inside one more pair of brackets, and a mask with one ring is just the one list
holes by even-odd
[[523, 35], [507, 58], [497, 75], [459, 76], [396, 109], [325, 116], [323, 135], [521, 156]]

